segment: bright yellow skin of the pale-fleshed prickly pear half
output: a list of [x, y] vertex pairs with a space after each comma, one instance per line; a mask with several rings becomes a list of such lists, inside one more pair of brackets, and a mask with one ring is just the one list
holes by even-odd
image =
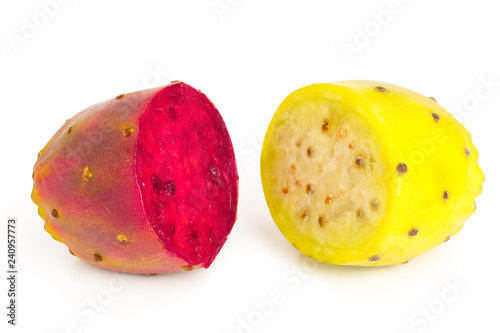
[[[286, 122], [288, 110], [310, 98], [349, 108], [370, 124], [383, 145], [387, 214], [375, 236], [357, 248], [336, 251], [299, 233], [294, 217], [272, 190], [274, 132]], [[449, 240], [475, 212], [474, 200], [484, 181], [478, 156], [469, 132], [433, 98], [383, 82], [340, 81], [301, 88], [282, 102], [264, 139], [261, 179], [275, 223], [305, 255], [339, 265], [393, 265]], [[400, 163], [407, 165], [401, 176]]]

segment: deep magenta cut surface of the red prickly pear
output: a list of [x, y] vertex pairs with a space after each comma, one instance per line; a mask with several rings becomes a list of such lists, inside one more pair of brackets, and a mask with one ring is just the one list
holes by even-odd
[[231, 141], [205, 96], [176, 85], [139, 119], [137, 179], [148, 220], [166, 249], [210, 266], [236, 216]]

